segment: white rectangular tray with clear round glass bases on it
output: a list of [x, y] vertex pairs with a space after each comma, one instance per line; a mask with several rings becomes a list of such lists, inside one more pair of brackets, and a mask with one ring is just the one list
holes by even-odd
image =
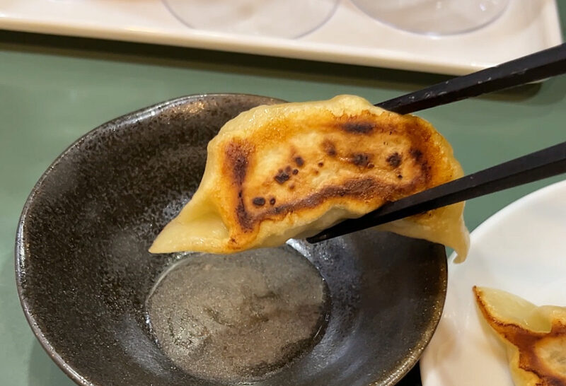
[[295, 40], [194, 30], [161, 0], [0, 0], [0, 28], [454, 75], [562, 42], [555, 0], [510, 0], [497, 21], [449, 37], [391, 28], [349, 0], [341, 0], [320, 28]]

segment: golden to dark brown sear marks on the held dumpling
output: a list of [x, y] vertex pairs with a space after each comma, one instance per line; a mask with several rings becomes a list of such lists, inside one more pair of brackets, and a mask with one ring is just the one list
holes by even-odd
[[[317, 140], [320, 142], [318, 145], [286, 145], [286, 139], [281, 138], [281, 146], [289, 148], [287, 164], [276, 166], [277, 169], [272, 171], [270, 180], [262, 182], [261, 189], [249, 192], [246, 191], [248, 168], [262, 168], [260, 160], [258, 165], [254, 165], [250, 157], [253, 157], [258, 149], [276, 148], [279, 144], [269, 144], [268, 141], [254, 136], [246, 140], [232, 139], [226, 145], [224, 168], [232, 170], [237, 202], [235, 217], [239, 228], [246, 233], [253, 232], [267, 219], [274, 220], [341, 197], [381, 206], [386, 201], [393, 201], [436, 183], [432, 181], [432, 170], [427, 158], [432, 153], [434, 156], [434, 149], [428, 143], [430, 134], [427, 131], [431, 129], [420, 126], [415, 117], [384, 114], [385, 119], [368, 110], [363, 110], [355, 116], [335, 117], [326, 114], [313, 119], [312, 127], [303, 129], [304, 131], [285, 131], [285, 135], [292, 139], [297, 132], [311, 130], [319, 134], [320, 139]], [[275, 127], [289, 127], [289, 122], [284, 120], [271, 124]], [[395, 141], [392, 134], [403, 139], [403, 146], [400, 147], [403, 151], [381, 153], [383, 136], [387, 136], [388, 141]], [[370, 151], [371, 149], [374, 150]], [[306, 165], [313, 167], [306, 168]], [[380, 165], [379, 168], [376, 165]], [[272, 168], [274, 165], [266, 166]], [[341, 181], [333, 180], [316, 187], [309, 185], [312, 178], [321, 172], [337, 175], [340, 170], [346, 171]], [[383, 170], [391, 173], [391, 177], [384, 177], [386, 173]], [[284, 191], [279, 190], [282, 187]], [[278, 197], [280, 194], [282, 196]], [[249, 209], [246, 206], [246, 197]]]

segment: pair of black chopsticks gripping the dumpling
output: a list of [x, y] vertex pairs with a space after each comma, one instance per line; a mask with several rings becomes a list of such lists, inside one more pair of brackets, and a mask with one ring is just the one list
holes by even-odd
[[[399, 114], [408, 114], [565, 73], [566, 43], [563, 43], [499, 66], [452, 78], [414, 93], [386, 100], [376, 106]], [[306, 240], [319, 242], [335, 238], [565, 172], [566, 142], [563, 142], [385, 204], [369, 214], [342, 221]]]

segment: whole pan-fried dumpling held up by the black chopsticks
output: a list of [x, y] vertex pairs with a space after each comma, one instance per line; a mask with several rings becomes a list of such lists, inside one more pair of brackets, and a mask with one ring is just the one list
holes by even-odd
[[[200, 187], [150, 252], [282, 245], [463, 175], [431, 124], [352, 95], [242, 112], [207, 151]], [[463, 203], [379, 228], [468, 252]]]

